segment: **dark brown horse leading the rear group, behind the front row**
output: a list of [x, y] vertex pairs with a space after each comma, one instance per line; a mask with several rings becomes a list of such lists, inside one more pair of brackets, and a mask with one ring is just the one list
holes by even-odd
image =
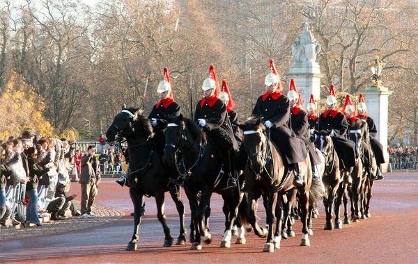
[[342, 226], [337, 215], [334, 227], [332, 226], [332, 206], [335, 201], [337, 204], [341, 204], [341, 197], [339, 196], [342, 193], [339, 190], [343, 188], [343, 174], [340, 170], [339, 158], [334, 149], [330, 133], [331, 131], [319, 131], [315, 141], [316, 148], [319, 149], [325, 159], [325, 172], [322, 178], [325, 186], [324, 206], [326, 220], [324, 230], [332, 230], [334, 227], [340, 228]]

